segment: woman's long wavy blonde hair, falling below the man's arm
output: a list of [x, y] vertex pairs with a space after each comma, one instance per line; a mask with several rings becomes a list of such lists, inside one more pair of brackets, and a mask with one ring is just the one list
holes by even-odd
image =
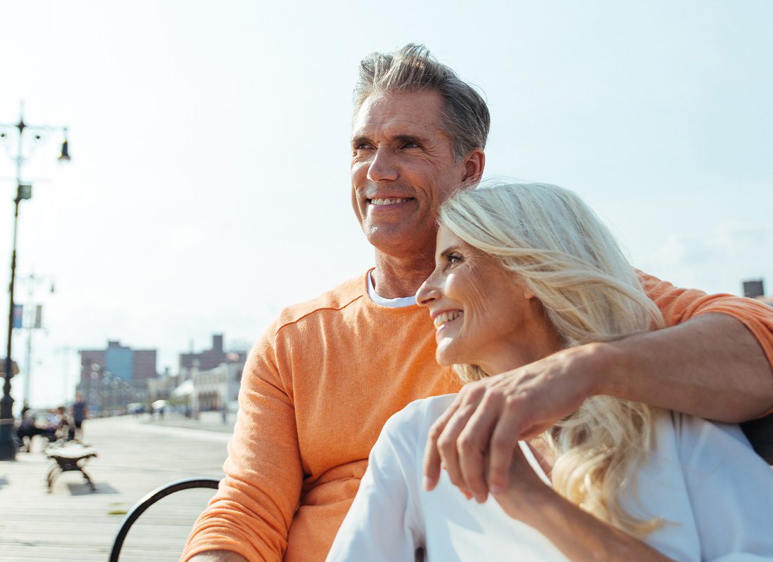
[[[541, 183], [486, 183], [457, 192], [441, 206], [440, 223], [517, 274], [540, 301], [564, 347], [609, 341], [662, 326], [634, 268], [598, 216], [573, 192]], [[455, 365], [462, 380], [488, 376]], [[546, 432], [557, 452], [557, 492], [643, 537], [662, 525], [621, 506], [652, 440], [652, 409], [594, 396]], [[634, 488], [635, 491], [635, 488]]]

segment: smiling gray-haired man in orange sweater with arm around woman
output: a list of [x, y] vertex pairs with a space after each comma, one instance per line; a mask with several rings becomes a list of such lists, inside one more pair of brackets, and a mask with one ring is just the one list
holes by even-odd
[[[414, 294], [433, 269], [438, 206], [481, 178], [488, 131], [482, 98], [424, 47], [363, 60], [352, 123], [352, 206], [376, 249], [376, 267], [286, 308], [257, 342], [243, 373], [226, 478], [183, 560], [324, 560], [386, 419], [412, 400], [458, 390], [451, 370], [434, 362], [434, 327]], [[599, 392], [724, 421], [768, 411], [773, 311], [645, 274], [642, 281], [669, 325], [683, 324], [505, 373], [497, 380], [509, 386], [499, 387], [521, 389], [515, 399], [465, 390], [464, 403], [446, 417], [451, 432], [440, 427], [434, 438], [456, 431], [452, 416], [468, 407], [482, 404], [473, 420], [478, 438], [478, 418], [484, 429], [497, 414], [512, 419], [501, 407], [509, 400], [530, 412], [547, 404], [555, 419]], [[642, 383], [615, 386], [622, 368], [636, 370]], [[568, 371], [584, 382], [571, 395], [556, 393], [551, 380]], [[533, 431], [543, 417], [522, 416], [513, 432]], [[502, 441], [502, 430], [495, 431]], [[429, 475], [437, 462], [431, 458]], [[471, 464], [465, 455], [459, 462]]]

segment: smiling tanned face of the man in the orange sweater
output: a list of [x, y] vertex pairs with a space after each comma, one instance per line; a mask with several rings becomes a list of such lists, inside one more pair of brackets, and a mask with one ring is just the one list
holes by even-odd
[[434, 252], [438, 207], [470, 175], [442, 128], [443, 104], [434, 91], [373, 94], [355, 115], [352, 207], [384, 254]]

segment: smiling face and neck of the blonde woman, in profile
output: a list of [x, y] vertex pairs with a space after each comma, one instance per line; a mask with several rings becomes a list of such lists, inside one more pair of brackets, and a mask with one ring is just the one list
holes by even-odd
[[493, 375], [558, 349], [542, 305], [518, 276], [443, 226], [435, 269], [416, 300], [429, 309], [441, 365], [473, 364]]

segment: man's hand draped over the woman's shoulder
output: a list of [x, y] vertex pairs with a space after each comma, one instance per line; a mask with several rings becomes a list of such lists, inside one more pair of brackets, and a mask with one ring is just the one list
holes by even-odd
[[519, 439], [545, 431], [601, 389], [604, 370], [595, 362], [599, 345], [564, 349], [465, 385], [430, 429], [425, 488], [438, 484], [442, 465], [451, 482], [478, 502], [485, 501], [489, 491], [506, 490]]

